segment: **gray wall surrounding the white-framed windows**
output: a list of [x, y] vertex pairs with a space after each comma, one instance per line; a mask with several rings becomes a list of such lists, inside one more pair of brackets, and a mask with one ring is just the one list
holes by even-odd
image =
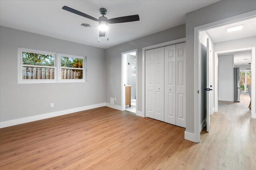
[[[105, 102], [104, 49], [2, 26], [0, 37], [1, 122]], [[86, 56], [88, 82], [18, 84], [18, 47]]]

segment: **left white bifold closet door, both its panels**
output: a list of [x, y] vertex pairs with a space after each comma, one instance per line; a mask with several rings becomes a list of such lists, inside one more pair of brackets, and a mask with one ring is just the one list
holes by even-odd
[[146, 51], [146, 117], [164, 121], [164, 47]]

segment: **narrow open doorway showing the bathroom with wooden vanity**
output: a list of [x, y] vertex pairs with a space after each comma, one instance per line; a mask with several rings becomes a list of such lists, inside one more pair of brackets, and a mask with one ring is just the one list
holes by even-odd
[[122, 53], [122, 110], [136, 113], [137, 49]]

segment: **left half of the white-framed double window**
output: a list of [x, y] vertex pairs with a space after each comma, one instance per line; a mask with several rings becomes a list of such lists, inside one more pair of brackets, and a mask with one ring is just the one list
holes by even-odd
[[56, 53], [18, 49], [19, 83], [53, 83], [56, 78]]

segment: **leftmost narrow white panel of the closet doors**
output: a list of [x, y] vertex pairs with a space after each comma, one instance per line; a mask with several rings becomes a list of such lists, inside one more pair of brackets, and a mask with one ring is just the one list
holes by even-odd
[[154, 119], [154, 49], [146, 51], [146, 117]]

